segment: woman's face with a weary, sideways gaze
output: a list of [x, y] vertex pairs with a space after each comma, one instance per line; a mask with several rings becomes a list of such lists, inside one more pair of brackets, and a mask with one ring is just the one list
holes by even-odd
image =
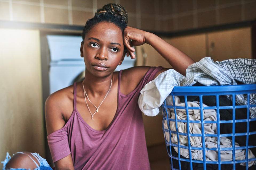
[[87, 71], [99, 77], [110, 75], [125, 56], [121, 29], [107, 22], [94, 25], [85, 35], [80, 51]]

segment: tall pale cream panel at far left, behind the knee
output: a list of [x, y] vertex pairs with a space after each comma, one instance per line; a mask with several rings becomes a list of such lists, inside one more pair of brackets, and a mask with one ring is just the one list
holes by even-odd
[[0, 28], [0, 37], [0, 161], [17, 151], [45, 157], [39, 31]]

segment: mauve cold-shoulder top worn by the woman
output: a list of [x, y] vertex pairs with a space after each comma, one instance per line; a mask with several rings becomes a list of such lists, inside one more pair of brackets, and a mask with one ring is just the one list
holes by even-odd
[[91, 128], [76, 108], [65, 126], [47, 136], [53, 162], [70, 153], [75, 170], [147, 170], [150, 169], [141, 110], [137, 100], [141, 89], [162, 67], [151, 67], [138, 86], [129, 94], [120, 92], [118, 79], [118, 106], [109, 127], [102, 131]]

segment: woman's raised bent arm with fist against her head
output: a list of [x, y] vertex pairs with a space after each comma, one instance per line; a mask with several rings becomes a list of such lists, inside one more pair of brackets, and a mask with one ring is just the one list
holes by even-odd
[[135, 49], [132, 46], [147, 43], [154, 47], [154, 49], [157, 50], [158, 53], [161, 54], [176, 71], [184, 76], [186, 74], [187, 67], [194, 63], [194, 60], [185, 53], [165, 42], [153, 33], [132, 27], [126, 27], [123, 32], [123, 41], [127, 47], [127, 56], [130, 55], [131, 58], [135, 58], [133, 53]]

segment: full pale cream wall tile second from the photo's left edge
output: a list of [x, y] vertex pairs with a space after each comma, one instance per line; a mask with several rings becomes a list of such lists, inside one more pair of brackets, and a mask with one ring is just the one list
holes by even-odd
[[40, 6], [13, 3], [13, 20], [41, 22]]

